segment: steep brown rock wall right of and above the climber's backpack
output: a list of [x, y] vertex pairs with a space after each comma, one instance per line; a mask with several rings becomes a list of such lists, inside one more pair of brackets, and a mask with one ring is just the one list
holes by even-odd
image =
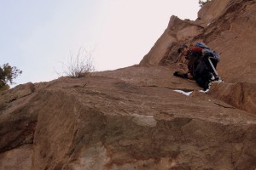
[[[212, 1], [212, 3], [215, 1]], [[256, 82], [256, 3], [231, 1], [223, 15], [195, 37], [218, 51], [218, 73], [224, 82]]]

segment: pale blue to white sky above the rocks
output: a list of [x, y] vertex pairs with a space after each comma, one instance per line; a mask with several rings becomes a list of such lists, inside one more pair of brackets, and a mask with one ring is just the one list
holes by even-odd
[[0, 65], [23, 71], [17, 84], [58, 78], [79, 48], [93, 49], [96, 71], [137, 65], [172, 15], [195, 20], [199, 9], [198, 0], [0, 0]]

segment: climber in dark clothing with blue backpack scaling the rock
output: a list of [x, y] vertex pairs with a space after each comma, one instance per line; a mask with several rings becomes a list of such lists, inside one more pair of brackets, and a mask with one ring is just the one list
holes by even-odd
[[218, 80], [216, 71], [218, 54], [207, 48], [204, 43], [198, 42], [195, 46], [183, 44], [178, 48], [177, 52], [184, 55], [185, 59], [188, 59], [189, 71], [175, 71], [173, 73], [174, 76], [194, 79], [204, 90], [209, 88], [211, 82]]

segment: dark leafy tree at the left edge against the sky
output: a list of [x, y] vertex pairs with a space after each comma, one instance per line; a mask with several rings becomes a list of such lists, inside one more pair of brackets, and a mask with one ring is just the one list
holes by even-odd
[[9, 63], [0, 66], [0, 90], [9, 89], [9, 84], [14, 84], [13, 80], [21, 73], [22, 71]]

